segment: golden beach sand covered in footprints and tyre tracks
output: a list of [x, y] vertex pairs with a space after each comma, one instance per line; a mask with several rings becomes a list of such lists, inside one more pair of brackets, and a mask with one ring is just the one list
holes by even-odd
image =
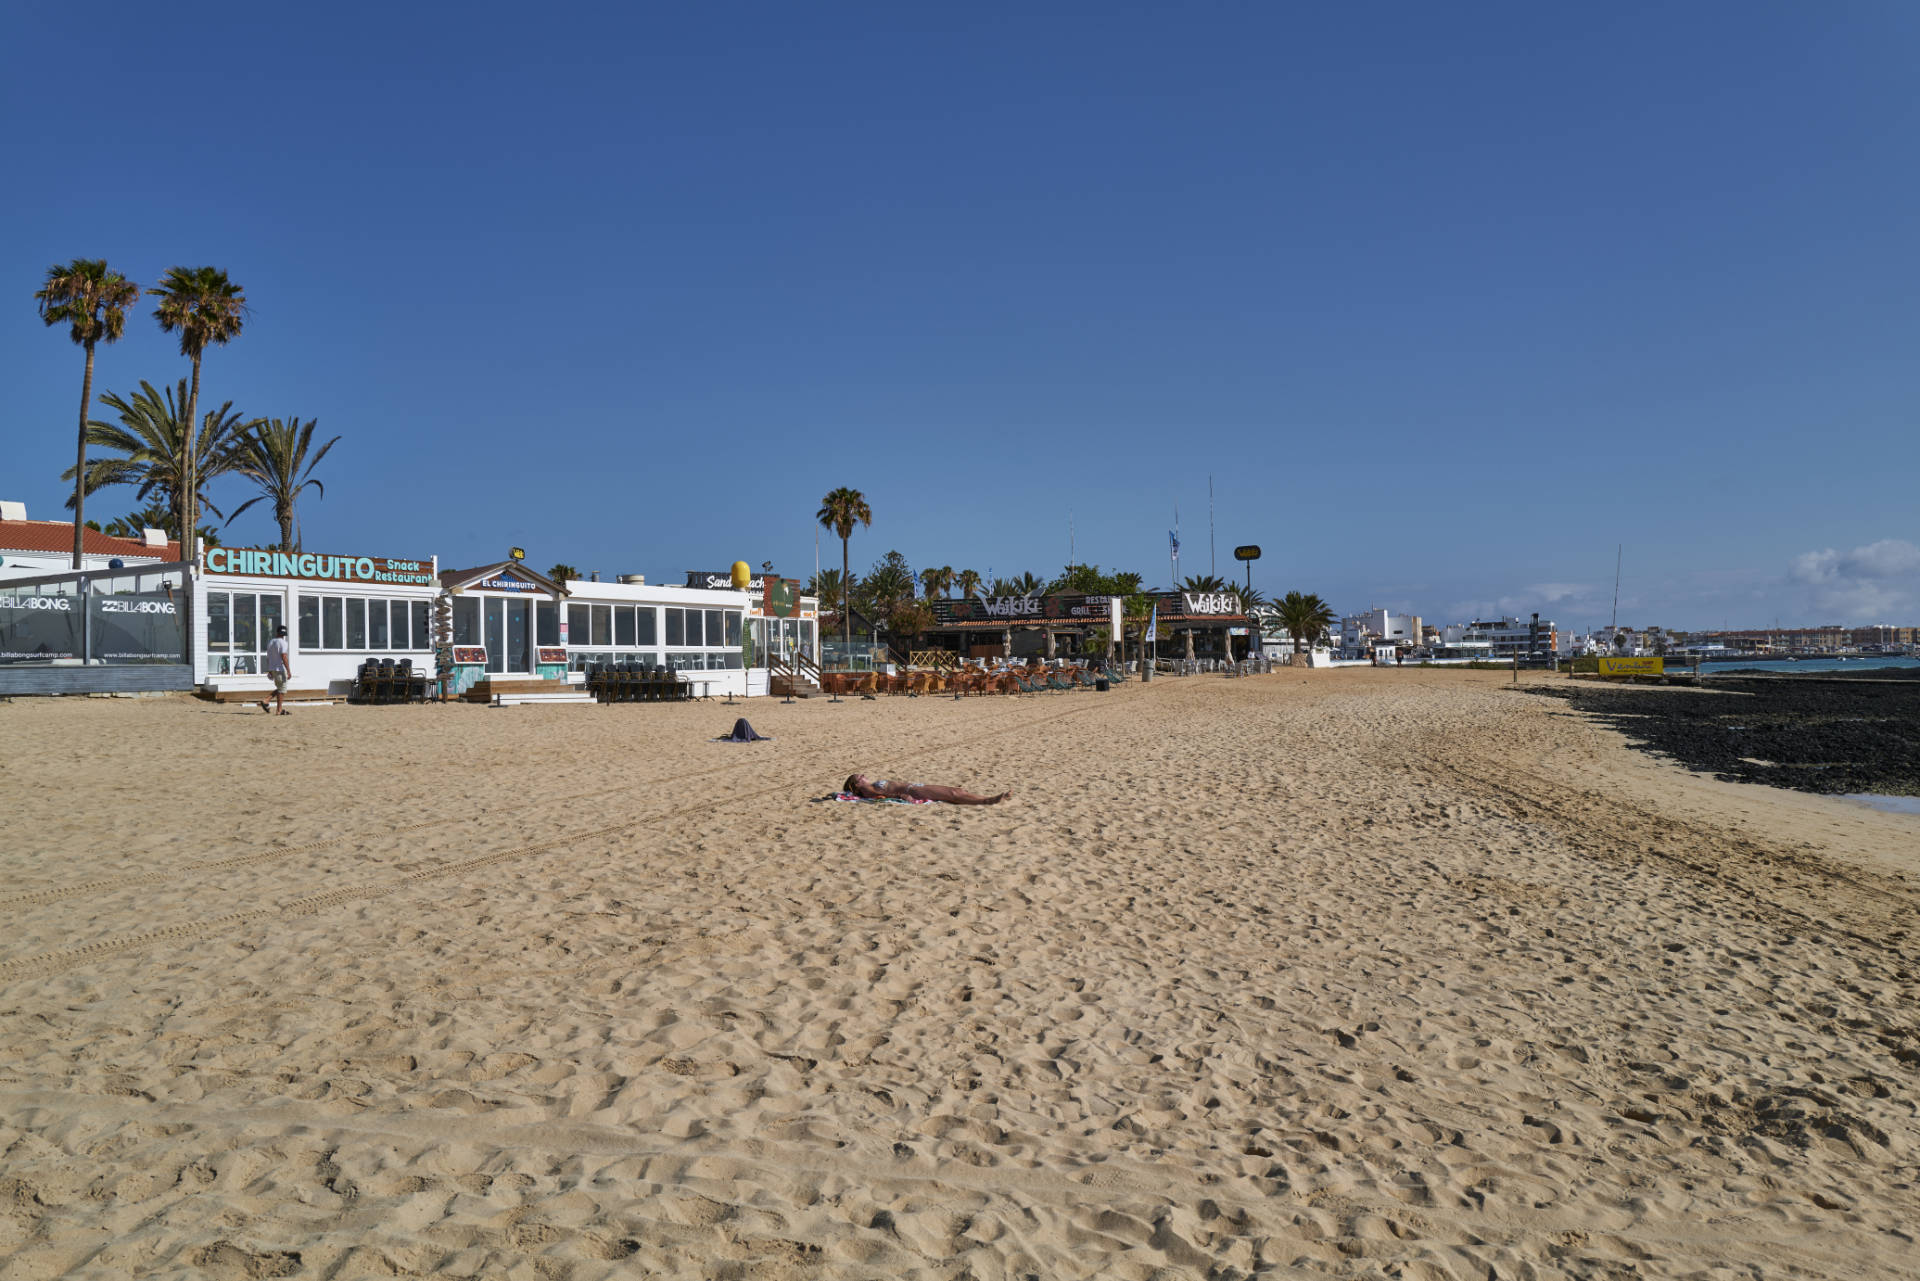
[[6, 1279], [1920, 1275], [1920, 818], [1503, 672], [0, 726]]

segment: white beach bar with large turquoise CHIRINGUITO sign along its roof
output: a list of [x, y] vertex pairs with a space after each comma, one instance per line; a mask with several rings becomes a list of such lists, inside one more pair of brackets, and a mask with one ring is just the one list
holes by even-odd
[[194, 684], [221, 701], [271, 693], [278, 626], [290, 695], [346, 695], [367, 659], [432, 672], [436, 568], [434, 557], [207, 547], [194, 574]]

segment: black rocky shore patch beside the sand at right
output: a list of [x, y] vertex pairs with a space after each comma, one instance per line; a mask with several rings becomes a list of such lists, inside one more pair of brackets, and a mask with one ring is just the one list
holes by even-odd
[[1715, 676], [1703, 688], [1534, 686], [1690, 770], [1797, 791], [1920, 795], [1920, 680]]

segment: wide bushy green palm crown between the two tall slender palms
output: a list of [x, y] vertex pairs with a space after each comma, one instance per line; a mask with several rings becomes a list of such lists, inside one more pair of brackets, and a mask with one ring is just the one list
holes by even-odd
[[[165, 394], [156, 390], [152, 382], [142, 382], [132, 399], [111, 392], [102, 396], [100, 403], [119, 415], [119, 424], [94, 419], [86, 424], [86, 442], [121, 457], [92, 459], [86, 465], [86, 482], [75, 490], [75, 497], [79, 497], [102, 486], [131, 484], [134, 497], [142, 503], [161, 499], [165, 513], [161, 528], [167, 530], [169, 538], [180, 540], [182, 559], [192, 555], [186, 549], [190, 540], [180, 536], [188, 528], [184, 522], [186, 478], [192, 476], [196, 486], [205, 488], [221, 472], [232, 471], [238, 457], [234, 444], [246, 430], [232, 401], [227, 401], [202, 415], [200, 430], [192, 434], [194, 440], [188, 446], [186, 396], [186, 378], [180, 378], [177, 388], [167, 388]], [[75, 469], [63, 472], [61, 478], [79, 474]], [[221, 515], [221, 509], [205, 497], [200, 501], [215, 517]]]

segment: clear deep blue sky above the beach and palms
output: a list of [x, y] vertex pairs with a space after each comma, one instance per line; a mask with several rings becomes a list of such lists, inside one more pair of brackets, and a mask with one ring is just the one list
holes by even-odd
[[[1162, 582], [1212, 476], [1219, 570], [1342, 611], [1605, 622], [1624, 544], [1622, 622], [1920, 622], [1912, 4], [0, 21], [33, 515], [31, 294], [104, 255], [246, 288], [205, 394], [344, 438], [309, 549], [804, 574], [847, 484], [856, 567], [1050, 572], [1071, 513]], [[142, 303], [96, 390], [184, 373]]]

